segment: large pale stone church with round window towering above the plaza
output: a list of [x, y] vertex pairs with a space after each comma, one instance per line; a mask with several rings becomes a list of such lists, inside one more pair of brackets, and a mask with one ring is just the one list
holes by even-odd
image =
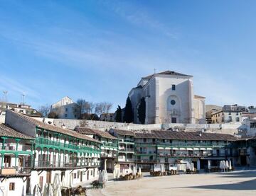
[[143, 77], [129, 92], [134, 123], [140, 123], [137, 108], [146, 100], [145, 124], [206, 123], [205, 99], [193, 93], [193, 76], [163, 71]]

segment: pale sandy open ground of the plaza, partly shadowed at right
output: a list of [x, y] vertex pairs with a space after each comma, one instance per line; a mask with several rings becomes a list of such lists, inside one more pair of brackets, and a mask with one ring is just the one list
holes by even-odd
[[110, 181], [87, 195], [256, 195], [256, 170]]

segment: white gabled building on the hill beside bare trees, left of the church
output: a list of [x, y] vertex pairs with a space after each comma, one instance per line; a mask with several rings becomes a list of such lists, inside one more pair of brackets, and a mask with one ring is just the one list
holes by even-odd
[[78, 104], [68, 96], [60, 99], [57, 103], [50, 105], [50, 112], [54, 112], [58, 115], [58, 118], [63, 119], [78, 119], [80, 117]]

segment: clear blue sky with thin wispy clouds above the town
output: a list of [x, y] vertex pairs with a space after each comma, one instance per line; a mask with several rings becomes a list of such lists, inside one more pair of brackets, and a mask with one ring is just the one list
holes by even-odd
[[142, 76], [194, 76], [206, 103], [256, 105], [256, 1], [0, 0], [0, 91], [124, 106]]

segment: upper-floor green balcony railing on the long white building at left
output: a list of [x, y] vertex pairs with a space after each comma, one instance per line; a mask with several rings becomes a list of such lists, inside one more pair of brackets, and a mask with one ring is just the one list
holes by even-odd
[[78, 144], [66, 144], [66, 143], [62, 143], [62, 142], [56, 142], [50, 139], [46, 139], [46, 138], [36, 138], [36, 144], [45, 144], [45, 145], [50, 145], [50, 146], [60, 146], [66, 149], [75, 149], [75, 150], [85, 150], [88, 151], [89, 153], [100, 153], [100, 149], [93, 149], [91, 147], [88, 146], [81, 146]]

